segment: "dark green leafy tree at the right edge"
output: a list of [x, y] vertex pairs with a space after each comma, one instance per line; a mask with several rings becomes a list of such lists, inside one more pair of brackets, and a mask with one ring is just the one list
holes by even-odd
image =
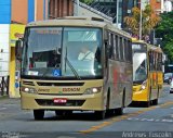
[[173, 63], [173, 12], [162, 13], [161, 21], [156, 27], [158, 38], [162, 38], [162, 49]]

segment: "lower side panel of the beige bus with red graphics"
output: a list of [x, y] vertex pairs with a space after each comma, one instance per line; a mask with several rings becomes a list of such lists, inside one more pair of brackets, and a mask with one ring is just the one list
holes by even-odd
[[109, 61], [110, 101], [109, 109], [121, 108], [132, 101], [132, 65], [120, 61]]

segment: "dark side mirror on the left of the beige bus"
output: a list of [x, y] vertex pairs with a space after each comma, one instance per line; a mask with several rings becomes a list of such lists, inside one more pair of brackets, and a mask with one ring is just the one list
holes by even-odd
[[15, 42], [15, 57], [17, 60], [22, 59], [22, 47], [23, 47], [23, 40], [19, 39]]

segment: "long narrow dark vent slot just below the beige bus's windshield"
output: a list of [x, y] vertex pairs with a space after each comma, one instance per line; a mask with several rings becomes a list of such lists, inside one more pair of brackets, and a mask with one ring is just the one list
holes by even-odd
[[84, 83], [37, 83], [39, 86], [83, 86]]

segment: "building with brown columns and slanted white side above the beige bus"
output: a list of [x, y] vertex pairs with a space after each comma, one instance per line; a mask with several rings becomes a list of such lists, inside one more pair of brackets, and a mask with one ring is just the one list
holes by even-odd
[[49, 2], [49, 18], [57, 18], [62, 16], [97, 16], [108, 21], [112, 21], [103, 12], [99, 12], [90, 5], [77, 0], [50, 0]]

